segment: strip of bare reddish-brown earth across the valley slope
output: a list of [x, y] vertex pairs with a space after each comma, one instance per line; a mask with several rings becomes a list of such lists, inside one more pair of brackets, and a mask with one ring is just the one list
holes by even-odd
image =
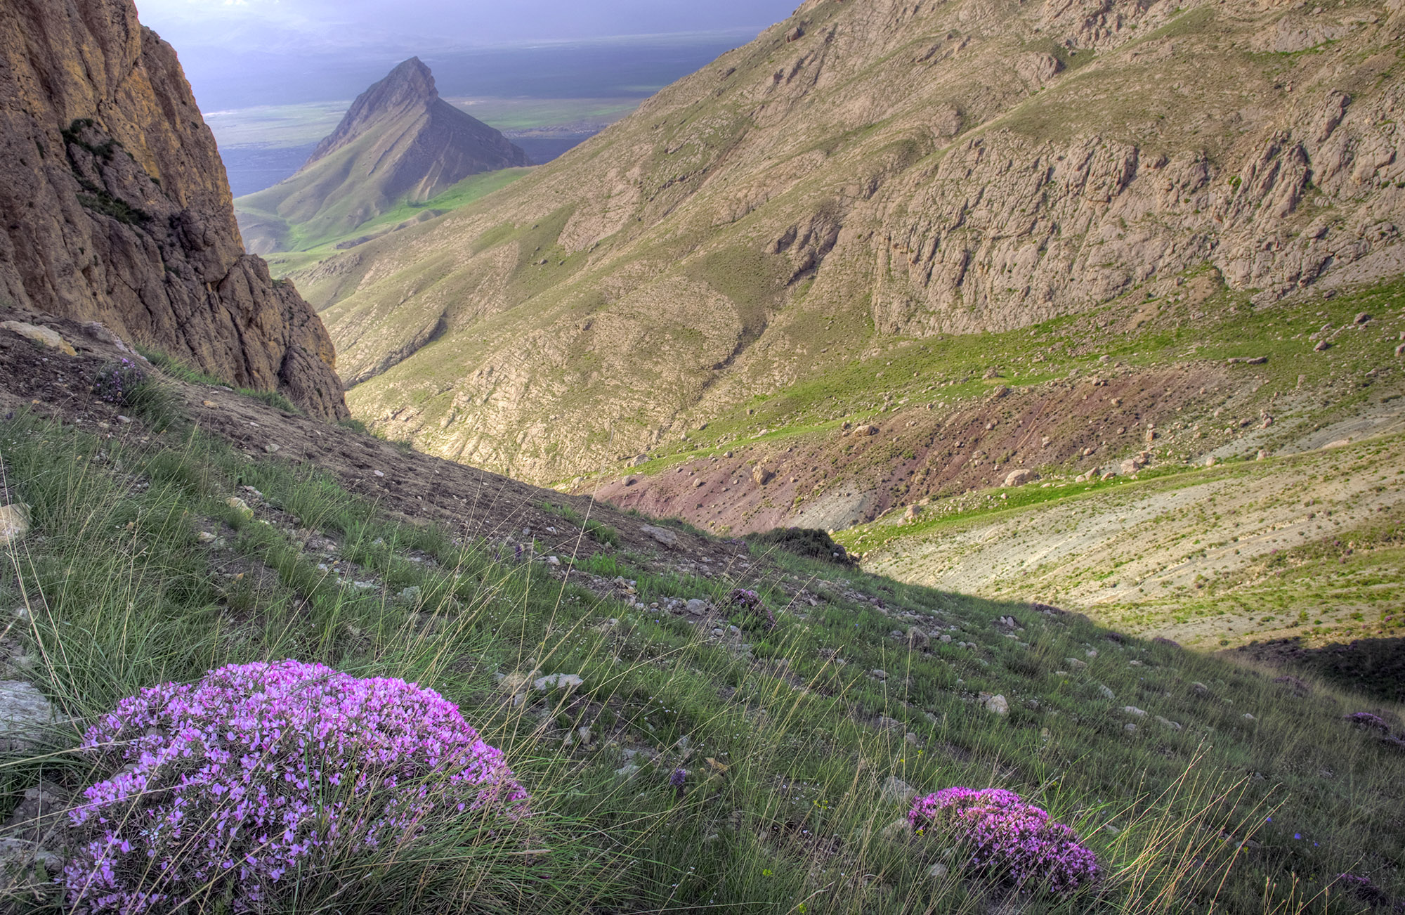
[[[1158, 371], [1109, 367], [1102, 377], [1026, 389], [999, 385], [984, 402], [955, 410], [932, 402], [853, 422], [850, 429], [836, 424], [799, 441], [739, 441], [725, 453], [732, 457], [611, 479], [596, 495], [710, 530], [843, 528], [940, 492], [996, 486], [1016, 468], [1102, 471], [1144, 443], [1158, 416], [1168, 423], [1179, 409], [1210, 403], [1227, 382], [1224, 365], [1197, 364]], [[1165, 448], [1168, 430], [1158, 434], [1155, 447]], [[1092, 453], [1085, 455], [1086, 450]], [[757, 469], [774, 476], [762, 485]]]

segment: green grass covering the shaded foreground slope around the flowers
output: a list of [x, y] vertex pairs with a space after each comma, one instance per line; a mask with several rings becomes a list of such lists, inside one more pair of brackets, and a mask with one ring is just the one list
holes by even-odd
[[[715, 578], [597, 555], [589, 571], [635, 582], [625, 604], [499, 559], [493, 544], [393, 524], [315, 469], [250, 462], [198, 431], [98, 439], [21, 412], [0, 422], [0, 455], [34, 521], [4, 552], [0, 607], [25, 607], [8, 638], [65, 714], [81, 722], [143, 686], [291, 656], [433, 687], [504, 751], [538, 811], [523, 841], [547, 850], [527, 867], [502, 843], [431, 836], [424, 849], [454, 849], [448, 877], [427, 853], [375, 864], [375, 895], [405, 911], [974, 914], [1002, 900], [958, 866], [927, 876], [960, 859], [882, 836], [903, 812], [880, 797], [889, 776], [923, 791], [1007, 787], [1073, 824], [1104, 885], [1034, 894], [1027, 912], [1359, 912], [1324, 897], [1349, 870], [1405, 893], [1391, 870], [1405, 853], [1405, 759], [1340, 721], [1360, 706], [1350, 697], [1291, 699], [1267, 676], [1111, 641], [1085, 620], [760, 545], [750, 571]], [[225, 503], [240, 486], [263, 495], [251, 519]], [[776, 630], [724, 614], [740, 634], [718, 640], [652, 607], [722, 604], [735, 586], [763, 595]], [[1020, 621], [1013, 638], [1002, 616]], [[951, 642], [923, 651], [909, 627]], [[586, 684], [517, 706], [496, 680], [537, 672]], [[985, 711], [982, 692], [1006, 696], [1010, 715]], [[1127, 732], [1124, 704], [1184, 728], [1145, 718]], [[579, 727], [594, 731], [589, 748], [568, 739]], [[39, 779], [80, 789], [74, 739], [4, 762], [0, 814]], [[639, 751], [629, 777], [615, 774], [624, 749]], [[681, 797], [674, 767], [690, 773]], [[1222, 836], [1260, 845], [1235, 853]], [[473, 890], [485, 885], [497, 894]], [[299, 911], [375, 905], [370, 891], [308, 888]], [[56, 911], [42, 885], [30, 893]]]

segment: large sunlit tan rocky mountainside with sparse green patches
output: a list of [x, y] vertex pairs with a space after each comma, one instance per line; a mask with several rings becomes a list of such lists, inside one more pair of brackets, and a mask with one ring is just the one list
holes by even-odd
[[853, 422], [920, 396], [899, 349], [927, 388], [982, 335], [1399, 275], [1405, 11], [1314, 10], [811, 0], [473, 207], [274, 266], [360, 416], [530, 479]]

